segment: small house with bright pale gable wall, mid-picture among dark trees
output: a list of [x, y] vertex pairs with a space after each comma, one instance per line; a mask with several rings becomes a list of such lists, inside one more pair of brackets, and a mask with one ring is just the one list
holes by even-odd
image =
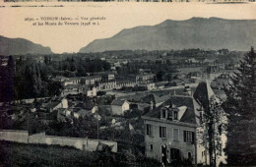
[[130, 103], [123, 99], [114, 99], [111, 103], [111, 110], [113, 115], [124, 115], [126, 110], [130, 109]]

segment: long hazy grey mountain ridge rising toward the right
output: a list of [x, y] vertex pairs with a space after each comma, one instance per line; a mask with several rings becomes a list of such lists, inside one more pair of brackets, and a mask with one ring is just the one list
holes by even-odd
[[247, 51], [256, 46], [256, 20], [192, 18], [166, 20], [156, 26], [123, 29], [114, 36], [96, 39], [81, 53], [107, 50], [178, 50], [186, 48]]

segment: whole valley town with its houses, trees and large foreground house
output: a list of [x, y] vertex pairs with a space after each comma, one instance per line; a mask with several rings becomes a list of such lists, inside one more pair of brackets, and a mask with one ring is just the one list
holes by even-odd
[[[86, 151], [101, 145], [155, 159], [154, 166], [224, 165], [226, 117], [220, 105], [244, 54], [184, 49], [2, 55], [0, 139]], [[204, 115], [213, 107], [217, 133], [207, 139]]]

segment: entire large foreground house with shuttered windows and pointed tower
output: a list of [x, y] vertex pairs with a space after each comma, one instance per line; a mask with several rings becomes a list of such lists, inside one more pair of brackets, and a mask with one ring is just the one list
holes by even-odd
[[[189, 158], [194, 164], [209, 165], [209, 152], [197, 132], [202, 131], [200, 119], [208, 108], [210, 98], [215, 97], [218, 101], [212, 87], [208, 82], [203, 82], [195, 90], [194, 87], [185, 86], [183, 90], [177, 88], [170, 94], [173, 95], [156, 108], [151, 107], [142, 117], [145, 121], [146, 156], [156, 158], [163, 164], [178, 158]], [[223, 150], [225, 132], [221, 140]], [[225, 163], [225, 158], [222, 151], [217, 165]]]

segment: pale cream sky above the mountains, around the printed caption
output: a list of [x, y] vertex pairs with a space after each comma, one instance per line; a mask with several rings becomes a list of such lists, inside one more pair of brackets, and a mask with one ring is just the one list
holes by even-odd
[[[20, 3], [26, 5], [25, 3]], [[49, 5], [48, 5], [49, 4]], [[48, 3], [51, 6], [55, 3]], [[81, 3], [80, 3], [81, 4]], [[0, 35], [26, 38], [48, 46], [54, 53], [78, 52], [95, 39], [107, 38], [123, 28], [154, 26], [165, 20], [188, 20], [192, 17], [224, 19], [256, 19], [256, 4], [199, 3], [64, 3], [65, 7], [0, 8]], [[10, 6], [12, 3], [0, 2]], [[19, 3], [15, 3], [19, 5]], [[35, 3], [39, 5], [39, 3]], [[44, 5], [45, 6], [45, 5]], [[99, 26], [32, 26], [26, 18], [104, 17]], [[81, 21], [81, 19], [80, 19]], [[79, 22], [80, 22], [79, 21]], [[35, 20], [35, 23], [37, 21]], [[87, 22], [88, 23], [88, 22]]]

